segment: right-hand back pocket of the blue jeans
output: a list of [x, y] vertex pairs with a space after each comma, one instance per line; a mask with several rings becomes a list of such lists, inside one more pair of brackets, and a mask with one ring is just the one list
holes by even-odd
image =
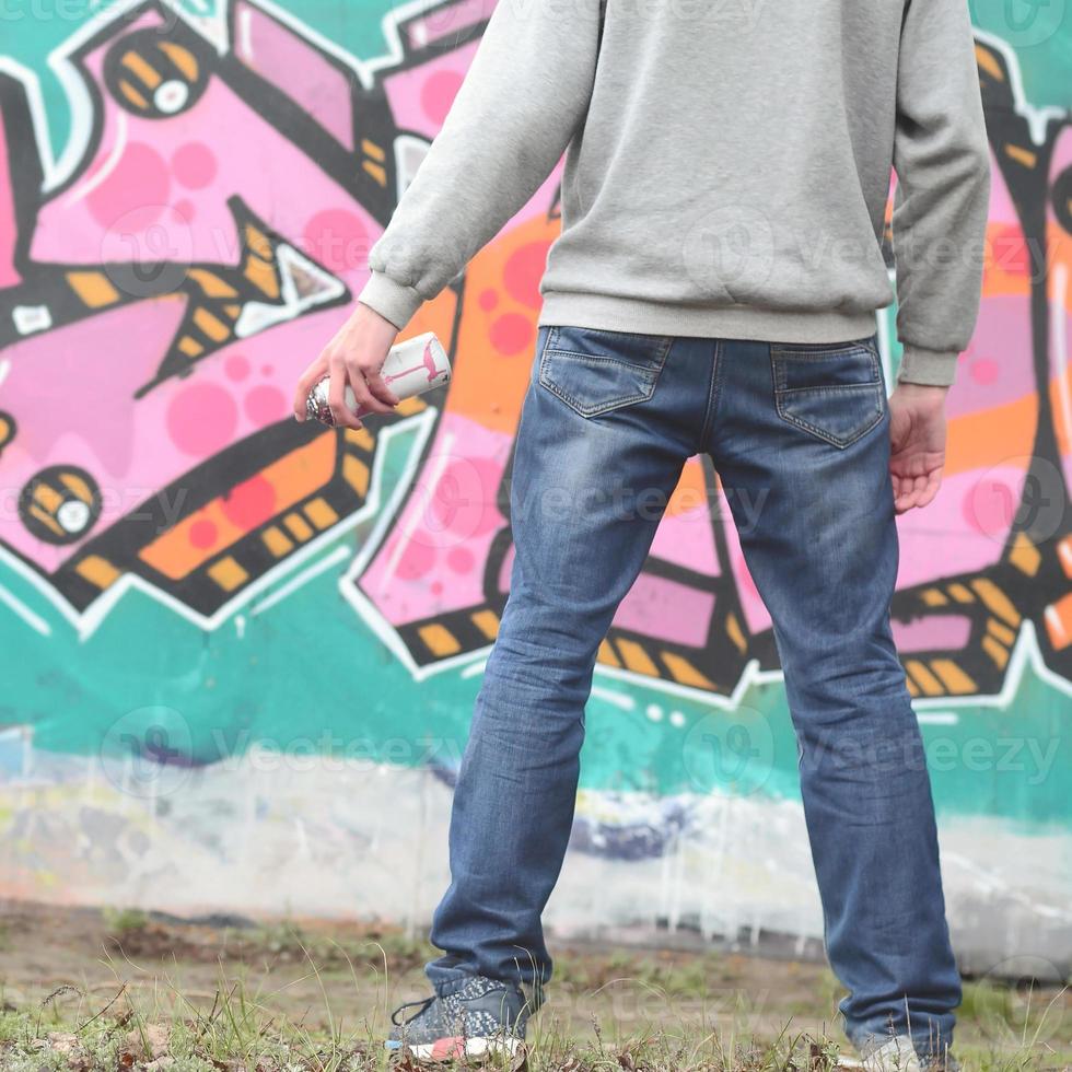
[[874, 337], [772, 342], [770, 360], [778, 416], [839, 450], [870, 432], [886, 411]]

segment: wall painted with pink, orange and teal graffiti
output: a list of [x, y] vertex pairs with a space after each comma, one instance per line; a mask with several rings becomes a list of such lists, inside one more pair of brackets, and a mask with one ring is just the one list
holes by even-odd
[[[942, 492], [899, 521], [894, 616], [958, 949], [1060, 968], [1072, 15], [1017, 2], [972, 8], [984, 292]], [[448, 391], [360, 432], [290, 400], [490, 5], [0, 13], [0, 894], [420, 927], [445, 888], [561, 162], [407, 328], [447, 345]], [[729, 517], [691, 459], [601, 649], [560, 934], [822, 937], [771, 622]]]

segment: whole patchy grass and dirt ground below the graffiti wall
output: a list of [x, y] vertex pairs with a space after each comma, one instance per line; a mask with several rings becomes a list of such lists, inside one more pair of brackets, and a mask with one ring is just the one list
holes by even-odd
[[[79, 927], [9, 927], [14, 949], [0, 955], [0, 1072], [410, 1068], [391, 1064], [382, 1039], [389, 1011], [426, 989], [421, 966], [434, 951], [422, 941], [391, 928], [294, 920], [206, 937], [130, 911]], [[36, 969], [53, 937], [68, 951], [84, 942], [85, 955], [42, 979]], [[20, 949], [37, 958], [32, 975], [16, 970]], [[491, 1067], [834, 1072], [848, 1052], [831, 1015], [839, 997], [837, 981], [816, 965], [563, 951], [524, 1062]], [[966, 1072], [1072, 1068], [1070, 1012], [1060, 988], [966, 983], [957, 1046]]]

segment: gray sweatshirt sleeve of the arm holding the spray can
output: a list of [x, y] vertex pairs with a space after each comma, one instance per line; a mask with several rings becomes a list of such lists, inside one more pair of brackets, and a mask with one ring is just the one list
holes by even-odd
[[498, 0], [358, 301], [401, 330], [520, 211], [587, 112], [599, 0]]

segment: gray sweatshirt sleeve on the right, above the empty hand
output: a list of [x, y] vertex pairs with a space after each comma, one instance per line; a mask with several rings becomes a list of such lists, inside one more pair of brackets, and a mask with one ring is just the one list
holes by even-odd
[[979, 313], [990, 202], [968, 0], [907, 0], [894, 168], [897, 378], [948, 385]]

